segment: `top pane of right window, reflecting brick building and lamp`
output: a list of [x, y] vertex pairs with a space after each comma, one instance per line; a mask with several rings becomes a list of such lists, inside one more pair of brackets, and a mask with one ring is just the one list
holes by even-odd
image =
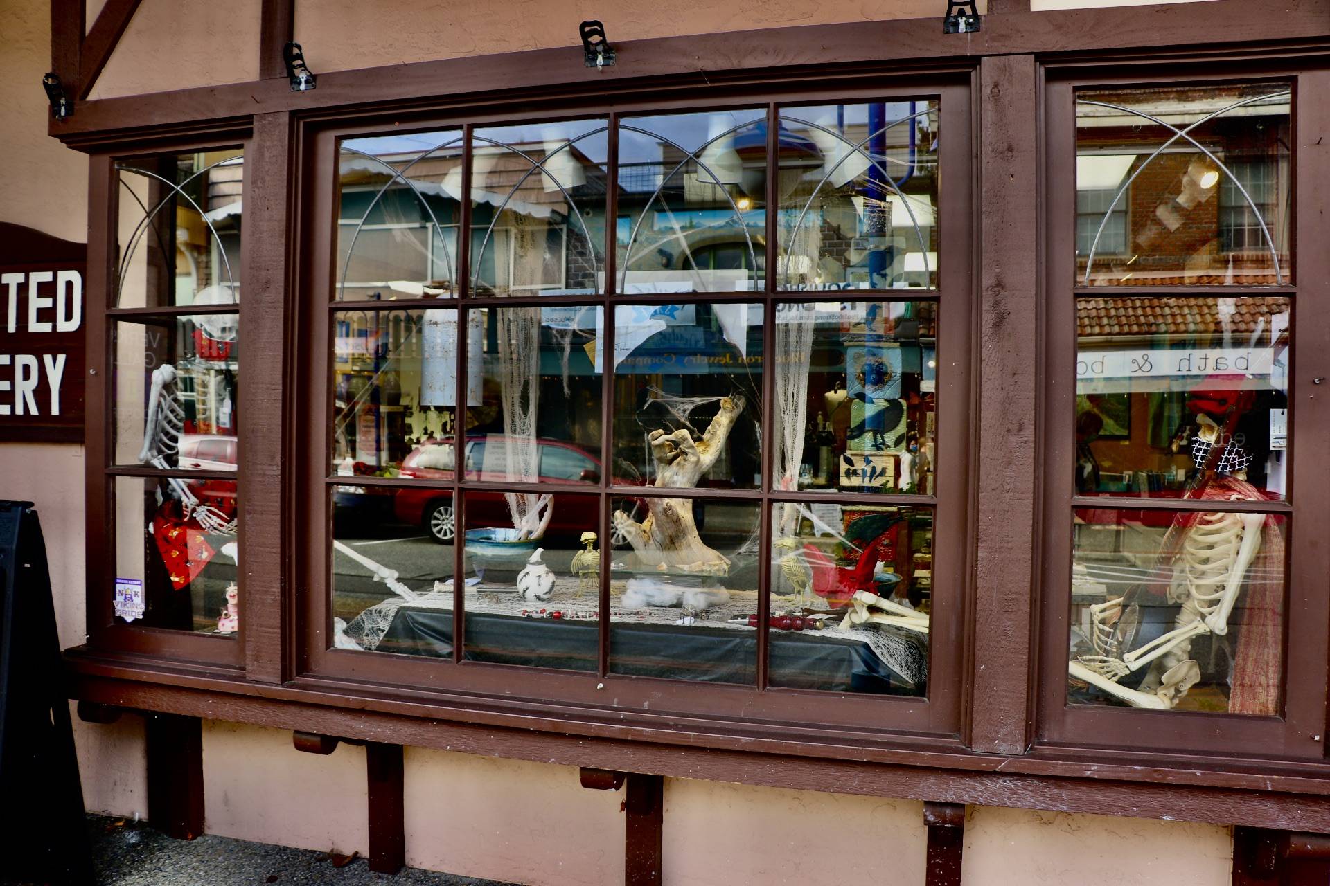
[[1287, 84], [1076, 98], [1077, 282], [1293, 282]]

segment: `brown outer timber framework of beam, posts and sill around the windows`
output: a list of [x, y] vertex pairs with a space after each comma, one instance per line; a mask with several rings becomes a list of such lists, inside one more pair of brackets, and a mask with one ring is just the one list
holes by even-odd
[[[983, 31], [963, 37], [943, 35], [936, 19], [696, 35], [618, 44], [620, 64], [602, 72], [585, 72], [580, 48], [572, 46], [321, 72], [319, 89], [306, 93], [290, 92], [279, 65], [277, 50], [290, 35], [281, 31], [282, 16], [269, 15], [269, 8], [278, 5], [265, 4], [261, 80], [76, 100], [72, 117], [49, 125], [53, 137], [90, 155], [88, 365], [98, 372], [105, 365], [108, 317], [96, 310], [98, 296], [92, 294], [108, 292], [114, 279], [113, 158], [245, 141], [247, 239], [241, 337], [247, 353], [265, 355], [263, 364], [277, 371], [247, 373], [239, 392], [242, 421], [259, 414], [261, 406], [282, 414], [305, 408], [306, 392], [295, 381], [309, 371], [309, 343], [295, 320], [295, 306], [309, 298], [303, 268], [310, 266], [317, 231], [306, 230], [302, 207], [314, 194], [315, 170], [298, 158], [309, 150], [306, 139], [321, 121], [350, 109], [371, 109], [387, 121], [410, 121], [422, 108], [439, 117], [533, 89], [544, 102], [600, 100], [614, 110], [624, 96], [649, 98], [670, 90], [693, 96], [672, 106], [696, 108], [700, 94], [714, 97], [717, 105], [735, 104], [734, 96], [754, 89], [817, 86], [827, 77], [859, 77], [862, 82], [916, 72], [968, 78], [972, 143], [979, 147], [972, 158], [974, 201], [967, 219], [974, 247], [967, 328], [976, 355], [976, 432], [966, 550], [966, 570], [974, 579], [964, 624], [959, 736], [892, 732], [872, 737], [862, 729], [825, 728], [758, 736], [746, 728], [749, 724], [696, 717], [622, 724], [569, 719], [563, 709], [500, 697], [480, 700], [454, 691], [426, 697], [395, 687], [309, 675], [299, 646], [305, 615], [298, 600], [309, 599], [309, 571], [301, 562], [295, 530], [306, 515], [293, 469], [301, 452], [293, 422], [274, 422], [271, 433], [241, 438], [245, 468], [238, 484], [245, 523], [238, 573], [245, 591], [243, 634], [235, 647], [242, 665], [207, 663], [189, 648], [98, 642], [97, 620], [109, 596], [94, 575], [105, 553], [98, 542], [105, 534], [105, 498], [98, 491], [105, 482], [105, 379], [89, 385], [88, 393], [85, 529], [93, 636], [65, 654], [73, 697], [351, 739], [382, 741], [391, 736], [402, 744], [564, 765], [1330, 832], [1330, 764], [1323, 756], [1158, 753], [1044, 739], [1043, 724], [1059, 711], [1043, 696], [1049, 665], [1041, 656], [1056, 650], [1053, 655], [1064, 659], [1065, 640], [1059, 636], [1049, 646], [1040, 639], [1051, 620], [1043, 606], [1055, 587], [1044, 574], [1044, 563], [1051, 561], [1048, 539], [1053, 538], [1044, 523], [1053, 511], [1047, 507], [1043, 477], [1049, 476], [1045, 457], [1067, 441], [1049, 437], [1049, 392], [1044, 383], [1036, 387], [1040, 375], [1048, 376], [1045, 348], [1053, 317], [1045, 310], [1051, 306], [1047, 294], [1056, 292], [1049, 287], [1045, 258], [1055, 218], [1047, 207], [1055, 177], [1044, 155], [1045, 138], [1056, 121], [1048, 89], [1056, 90], [1067, 78], [1113, 82], [1113, 74], [1124, 70], [1160, 82], [1230, 74], [1250, 78], [1274, 68], [1294, 72], [1299, 96], [1323, 96], [1323, 86], [1330, 85], [1330, 0], [1301, 0], [1293, 7], [1278, 0], [1212, 0], [1201, 17], [1192, 4], [1031, 12], [1017, 0], [995, 3]], [[74, 35], [82, 28], [74, 25], [81, 21], [82, 5], [59, 0], [52, 15], [53, 68], [66, 82], [78, 82]], [[835, 46], [834, 61], [827, 46]], [[1299, 132], [1330, 129], [1326, 112], [1315, 102], [1297, 101], [1297, 106]], [[1299, 143], [1305, 150], [1305, 141]], [[1295, 227], [1306, 235], [1310, 223], [1321, 224], [1317, 214], [1330, 209], [1327, 203], [1330, 181], [1325, 173], [1303, 181]], [[1318, 275], [1309, 256], [1298, 258], [1298, 279], [1301, 300], [1310, 300], [1309, 295], [1330, 298], [1330, 274]], [[1330, 353], [1330, 340], [1309, 345], [1299, 339], [1295, 347], [1302, 356], [1291, 396], [1299, 402], [1323, 396], [1313, 387], [1313, 379], [1319, 377], [1314, 359]], [[1306, 420], [1310, 410], [1301, 414]], [[1301, 440], [1317, 432], [1323, 434], [1323, 421], [1293, 428]], [[1028, 518], [1012, 521], [1013, 513]], [[1321, 588], [1325, 579], [1323, 574], [1299, 573], [1290, 580]], [[1325, 669], [1323, 660], [1313, 664]], [[1065, 662], [1055, 669], [1059, 684], [1064, 683]]]

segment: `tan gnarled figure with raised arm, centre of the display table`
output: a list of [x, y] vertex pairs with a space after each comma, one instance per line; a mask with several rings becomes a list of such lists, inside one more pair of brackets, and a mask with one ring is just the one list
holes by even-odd
[[[694, 441], [686, 428], [673, 433], [656, 429], [650, 433], [652, 458], [656, 461], [656, 486], [692, 489], [712, 469], [725, 446], [730, 429], [743, 412], [743, 397], [725, 397], [701, 441]], [[702, 543], [693, 521], [690, 498], [648, 498], [648, 515], [634, 521], [624, 511], [614, 511], [614, 529], [624, 535], [638, 559], [660, 571], [676, 570], [697, 575], [728, 575], [730, 561]]]

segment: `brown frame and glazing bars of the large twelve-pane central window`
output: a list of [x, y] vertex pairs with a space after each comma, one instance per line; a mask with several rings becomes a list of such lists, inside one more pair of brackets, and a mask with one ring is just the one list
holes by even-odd
[[[964, 550], [967, 545], [968, 525], [968, 491], [967, 491], [967, 465], [972, 446], [972, 428], [970, 422], [970, 402], [974, 361], [970, 357], [970, 327], [971, 327], [971, 263], [967, 260], [966, 244], [970, 239], [968, 218], [971, 214], [971, 162], [972, 157], [972, 108], [970, 97], [970, 77], [966, 73], [943, 74], [887, 74], [882, 73], [872, 80], [876, 84], [864, 82], [866, 78], [855, 77], [845, 84], [830, 80], [819, 84], [817, 89], [798, 85], [775, 85], [766, 90], [745, 90], [739, 94], [720, 97], [698, 96], [697, 90], [676, 90], [666, 96], [653, 96], [648, 100], [624, 96], [616, 101], [608, 112], [606, 121], [609, 132], [606, 134], [609, 150], [613, 153], [617, 130], [614, 125], [621, 117], [638, 113], [686, 113], [704, 112], [721, 108], [765, 108], [769, 132], [773, 128], [771, 118], [781, 108], [797, 108], [809, 104], [831, 102], [864, 102], [864, 101], [906, 101], [938, 100], [939, 130], [950, 133], [939, 139], [939, 194], [938, 194], [938, 284], [930, 290], [853, 290], [834, 292], [838, 300], [922, 300], [938, 306], [939, 341], [938, 352], [942, 355], [942, 365], [938, 376], [938, 442], [936, 442], [936, 484], [940, 495], [920, 494], [874, 494], [874, 493], [814, 493], [814, 491], [787, 491], [775, 490], [770, 485], [771, 446], [763, 448], [762, 477], [763, 482], [758, 489], [692, 489], [688, 495], [702, 499], [733, 501], [757, 505], [763, 515], [761, 517], [761, 530], [758, 535], [758, 550], [770, 550], [771, 527], [766, 514], [771, 502], [802, 501], [802, 502], [837, 502], [842, 505], [900, 505], [931, 509], [934, 519], [934, 551], [935, 574], [932, 587], [932, 620], [930, 632], [930, 668], [928, 668], [928, 696], [871, 696], [847, 692], [817, 692], [786, 689], [767, 685], [766, 652], [770, 632], [766, 630], [769, 618], [769, 595], [761, 587], [758, 592], [758, 619], [757, 632], [757, 679], [755, 687], [734, 684], [708, 684], [690, 680], [668, 680], [658, 677], [636, 677], [614, 673], [608, 667], [608, 636], [609, 619], [601, 619], [600, 658], [596, 673], [560, 672], [549, 668], [517, 667], [504, 664], [484, 664], [469, 662], [463, 658], [462, 643], [454, 643], [454, 660], [440, 662], [423, 656], [364, 654], [346, 650], [331, 650], [330, 646], [330, 594], [327, 576], [331, 575], [331, 533], [321, 531], [321, 527], [331, 525], [329, 509], [329, 493], [339, 485], [344, 485], [344, 478], [329, 477], [326, 466], [330, 441], [326, 433], [317, 429], [331, 426], [331, 353], [332, 353], [332, 323], [330, 316], [340, 311], [364, 310], [431, 310], [431, 308], [458, 308], [466, 306], [471, 308], [504, 308], [516, 306], [557, 306], [557, 304], [593, 304], [608, 311], [614, 304], [653, 304], [653, 303], [689, 303], [689, 302], [730, 302], [762, 304], [767, 315], [765, 353], [771, 353], [774, 347], [774, 306], [785, 302], [807, 302], [809, 294], [801, 291], [782, 291], [777, 288], [777, 275], [766, 274], [765, 288], [758, 291], [730, 291], [730, 292], [694, 292], [694, 294], [618, 294], [616, 258], [612, 255], [616, 244], [616, 227], [605, 226], [605, 287], [600, 295], [511, 295], [488, 296], [472, 295], [472, 280], [469, 267], [469, 247], [472, 236], [459, 238], [458, 255], [458, 287], [456, 298], [451, 299], [396, 299], [391, 303], [362, 302], [362, 300], [335, 300], [335, 280], [339, 274], [336, 267], [335, 228], [329, 226], [327, 219], [338, 215], [336, 206], [336, 169], [338, 149], [342, 138], [355, 138], [375, 135], [384, 129], [391, 133], [456, 130], [463, 133], [464, 154], [463, 162], [471, 157], [472, 129], [485, 125], [509, 124], [536, 124], [552, 122], [571, 118], [600, 118], [605, 113], [600, 100], [592, 102], [557, 102], [537, 108], [507, 109], [504, 106], [479, 108], [471, 113], [455, 112], [446, 117], [427, 117], [420, 114], [410, 122], [402, 121], [399, 116], [391, 122], [382, 117], [348, 116], [344, 120], [321, 121], [317, 130], [309, 132], [303, 142], [309, 145], [310, 153], [306, 165], [313, 173], [311, 195], [309, 202], [309, 227], [313, 238], [311, 256], [306, 279], [307, 286], [302, 287], [305, 300], [299, 306], [299, 313], [309, 317], [307, 340], [310, 341], [307, 359], [302, 361], [303, 372], [297, 388], [313, 396], [309, 401], [309, 412], [302, 413], [299, 425], [311, 429], [305, 434], [305, 453], [299, 460], [307, 465], [310, 478], [298, 478], [299, 501], [303, 502], [303, 511], [309, 514], [310, 531], [302, 539], [302, 561], [299, 573], [307, 582], [303, 599], [301, 602], [302, 615], [302, 644], [301, 673], [317, 679], [342, 679], [378, 685], [392, 685], [399, 691], [415, 689], [419, 692], [454, 691], [479, 693], [489, 697], [524, 696], [531, 704], [544, 707], [552, 712], [559, 712], [567, 717], [617, 717], [628, 721], [641, 723], [644, 727], [658, 724], [680, 716], [697, 719], [705, 724], [708, 721], [729, 723], [730, 727], [743, 721], [745, 729], [781, 736], [802, 729], [847, 729], [846, 735], [878, 740], [890, 733], [912, 732], [931, 735], [944, 740], [956, 740], [960, 733], [960, 712], [964, 680], [962, 671], [964, 667], [964, 626], [967, 619], [968, 576], [964, 569]], [[778, 157], [767, 150], [769, 171], [774, 170]], [[613, 167], [613, 163], [612, 163]], [[612, 173], [613, 175], [613, 173]], [[769, 175], [769, 182], [775, 178]], [[463, 190], [468, 189], [469, 170], [464, 166]], [[613, 186], [606, 195], [606, 218], [613, 218]], [[777, 210], [775, 195], [769, 187], [766, 224], [771, 235], [766, 242], [766, 266], [775, 267], [774, 254], [777, 250]], [[463, 209], [463, 226], [469, 224], [469, 207]], [[950, 262], [947, 254], [958, 256]], [[460, 320], [459, 320], [460, 323]], [[606, 320], [606, 325], [609, 321]], [[319, 348], [318, 343], [327, 343]], [[466, 367], [459, 360], [459, 371]], [[613, 383], [612, 373], [604, 373], [606, 389], [604, 396], [609, 396], [608, 385]], [[459, 385], [464, 385], [464, 379], [459, 379]], [[763, 373], [765, 393], [767, 404], [771, 397], [771, 373]], [[459, 388], [462, 389], [462, 388]], [[608, 452], [612, 442], [612, 424], [608, 420], [609, 404], [604, 404], [605, 416], [601, 426], [604, 450]], [[770, 409], [767, 410], [770, 413]], [[763, 418], [763, 440], [771, 437], [771, 416]], [[616, 497], [653, 497], [662, 495], [664, 490], [646, 486], [616, 486], [610, 484], [612, 477], [602, 472], [600, 482], [595, 486], [587, 484], [569, 484], [568, 493], [589, 493], [588, 498], [598, 498], [598, 526], [600, 538], [609, 537], [610, 502]], [[374, 486], [379, 489], [396, 487], [424, 487], [438, 486], [451, 490], [454, 501], [454, 514], [458, 526], [463, 526], [466, 489], [483, 489], [488, 491], [508, 490], [521, 491], [520, 485], [491, 484], [467, 480], [466, 472], [455, 472], [454, 482], [438, 484], [420, 480], [372, 478], [356, 477], [355, 485]], [[544, 490], [551, 484], [540, 482]], [[529, 490], [529, 487], [528, 487]], [[676, 490], [677, 491], [677, 490]], [[463, 546], [454, 545], [455, 561], [454, 575], [463, 574]], [[759, 555], [759, 571], [765, 586], [769, 571], [769, 558]], [[463, 594], [460, 583], [455, 592], [455, 610], [460, 612], [459, 624], [464, 624], [466, 611], [462, 606]], [[601, 570], [600, 611], [609, 611], [609, 570]], [[463, 630], [455, 628], [460, 635]], [[613, 703], [606, 700], [613, 699]]]

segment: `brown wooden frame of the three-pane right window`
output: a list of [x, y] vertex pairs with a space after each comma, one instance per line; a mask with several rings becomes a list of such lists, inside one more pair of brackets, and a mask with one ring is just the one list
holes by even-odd
[[[1323, 311], [1299, 310], [1317, 304], [1315, 288], [1299, 280], [1315, 280], [1330, 272], [1322, 251], [1295, 250], [1299, 231], [1314, 242], [1313, 231], [1323, 230], [1315, 221], [1322, 209], [1325, 173], [1317, 170], [1315, 151], [1298, 150], [1298, 132], [1319, 125], [1323, 113], [1314, 108], [1315, 89], [1326, 85], [1322, 70], [1306, 70], [1270, 64], [1230, 64], [1222, 69], [1178, 69], [1157, 65], [1154, 70], [1130, 74], [1103, 70], [1067, 69], [1045, 81], [1045, 187], [1044, 213], [1048, 251], [1044, 270], [1044, 385], [1043, 385], [1043, 553], [1040, 576], [1040, 685], [1036, 743], [1041, 747], [1099, 748], [1120, 756], [1182, 753], [1226, 754], [1270, 760], [1323, 761], [1326, 731], [1326, 662], [1330, 660], [1330, 595], [1325, 592], [1330, 575], [1330, 551], [1317, 542], [1318, 526], [1330, 519], [1330, 472], [1315, 454], [1315, 441], [1330, 438], [1330, 416], [1310, 408], [1315, 393], [1306, 367], [1318, 349], [1330, 341], [1330, 317]], [[1130, 89], [1134, 86], [1205, 86], [1256, 81], [1281, 81], [1291, 86], [1293, 151], [1293, 231], [1289, 276], [1293, 283], [1278, 286], [1088, 286], [1077, 278], [1075, 231], [1060, 223], [1075, 218], [1076, 109], [1075, 96], [1083, 89]], [[1313, 114], [1313, 118], [1305, 116]], [[1313, 284], [1315, 287], [1315, 284]], [[1068, 367], [1076, 360], [1076, 302], [1081, 298], [1188, 298], [1225, 296], [1287, 298], [1294, 315], [1291, 324], [1293, 368], [1289, 404], [1293, 409], [1289, 434], [1289, 486], [1282, 501], [1249, 506], [1213, 502], [1180, 502], [1174, 498], [1076, 494], [1073, 482], [1075, 385], [1068, 385]], [[1061, 367], [1061, 369], [1060, 369]], [[1299, 460], [1301, 453], [1301, 460]], [[1295, 478], [1295, 480], [1294, 480]], [[1283, 650], [1281, 654], [1281, 713], [1252, 716], [1144, 711], [1067, 703], [1067, 631], [1069, 620], [1072, 511], [1073, 509], [1112, 510], [1248, 510], [1278, 514], [1287, 519]], [[1317, 578], [1319, 576], [1319, 579]], [[1144, 737], [1148, 736], [1148, 737]]]

